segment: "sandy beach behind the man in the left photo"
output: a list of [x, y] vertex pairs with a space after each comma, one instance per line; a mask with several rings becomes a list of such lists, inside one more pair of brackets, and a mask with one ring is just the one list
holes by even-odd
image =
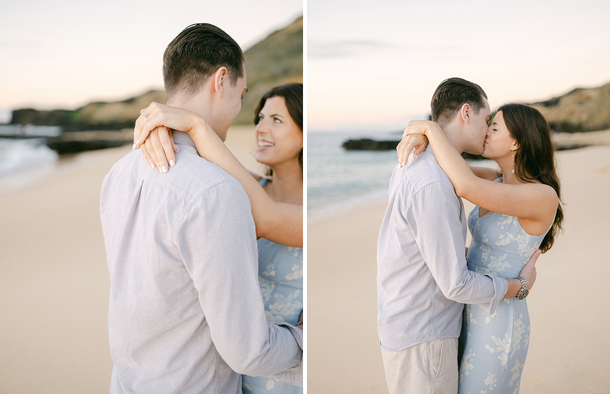
[[[254, 126], [231, 127], [226, 142], [260, 173]], [[129, 151], [64, 157], [42, 181], [0, 195], [0, 393], [108, 392], [99, 189]]]

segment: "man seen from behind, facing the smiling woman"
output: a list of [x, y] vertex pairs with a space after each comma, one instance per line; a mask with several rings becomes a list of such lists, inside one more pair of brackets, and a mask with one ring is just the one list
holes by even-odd
[[[168, 104], [198, 112], [224, 140], [247, 91], [239, 45], [218, 27], [189, 26], [165, 51], [163, 79]], [[134, 151], [102, 185], [110, 393], [241, 393], [240, 374], [299, 364], [302, 332], [265, 319], [242, 186], [201, 159], [188, 134], [174, 141], [172, 171]], [[279, 378], [296, 383], [291, 371]]]

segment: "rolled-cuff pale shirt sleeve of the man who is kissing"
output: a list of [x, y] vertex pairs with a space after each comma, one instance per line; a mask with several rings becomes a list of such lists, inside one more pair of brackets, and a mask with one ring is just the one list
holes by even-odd
[[479, 304], [493, 313], [508, 290], [508, 282], [468, 270], [462, 209], [450, 184], [433, 182], [409, 199], [407, 223], [443, 295], [458, 303]]

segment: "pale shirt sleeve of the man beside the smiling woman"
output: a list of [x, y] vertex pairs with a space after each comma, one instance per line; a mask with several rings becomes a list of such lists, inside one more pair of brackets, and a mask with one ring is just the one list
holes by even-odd
[[297, 365], [302, 342], [295, 335], [300, 334], [265, 318], [256, 232], [241, 185], [226, 181], [210, 188], [180, 222], [174, 242], [223, 360], [235, 372], [253, 376]]

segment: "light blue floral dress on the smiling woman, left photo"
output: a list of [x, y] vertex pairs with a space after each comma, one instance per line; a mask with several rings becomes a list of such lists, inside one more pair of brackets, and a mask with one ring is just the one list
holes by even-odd
[[[265, 179], [259, 182], [264, 185]], [[295, 325], [303, 312], [303, 248], [265, 238], [259, 248], [259, 283], [267, 321]], [[243, 394], [302, 394], [303, 388], [265, 376], [242, 375]]]

